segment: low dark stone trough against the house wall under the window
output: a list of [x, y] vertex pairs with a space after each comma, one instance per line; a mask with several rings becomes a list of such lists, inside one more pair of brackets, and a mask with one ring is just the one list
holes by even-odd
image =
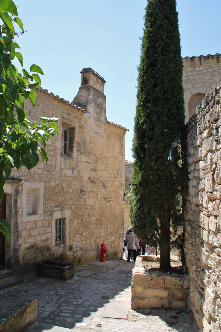
[[46, 260], [37, 264], [37, 276], [68, 280], [74, 276], [74, 264]]

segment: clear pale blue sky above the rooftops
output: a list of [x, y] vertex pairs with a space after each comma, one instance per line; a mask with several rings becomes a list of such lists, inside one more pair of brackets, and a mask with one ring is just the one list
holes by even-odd
[[[79, 73], [91, 67], [107, 81], [107, 120], [130, 129], [136, 110], [137, 65], [146, 0], [14, 0], [28, 32], [17, 38], [24, 67], [38, 64], [42, 87], [69, 101]], [[220, 0], [178, 0], [182, 56], [221, 53]], [[18, 68], [20, 66], [18, 65]]]

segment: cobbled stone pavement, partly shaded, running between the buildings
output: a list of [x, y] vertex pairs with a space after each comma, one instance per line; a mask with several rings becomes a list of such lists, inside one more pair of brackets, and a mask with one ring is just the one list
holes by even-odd
[[7, 301], [37, 299], [37, 324], [27, 332], [196, 332], [193, 318], [183, 311], [130, 309], [127, 319], [101, 317], [110, 301], [122, 306], [131, 302], [131, 274], [124, 271], [133, 267], [133, 262], [125, 260], [95, 261], [75, 268], [75, 272], [96, 272], [89, 277], [59, 281], [33, 276], [1, 290], [0, 303], [6, 296]]

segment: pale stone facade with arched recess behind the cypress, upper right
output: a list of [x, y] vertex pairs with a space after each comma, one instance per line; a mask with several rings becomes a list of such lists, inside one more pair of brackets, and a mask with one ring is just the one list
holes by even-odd
[[221, 54], [186, 56], [183, 58], [183, 87], [186, 122], [195, 113], [206, 94], [221, 78]]

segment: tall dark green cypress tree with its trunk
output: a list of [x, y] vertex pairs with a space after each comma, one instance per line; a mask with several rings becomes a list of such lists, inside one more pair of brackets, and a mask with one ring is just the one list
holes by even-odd
[[182, 227], [182, 77], [176, 0], [149, 0], [138, 67], [130, 216], [137, 236], [159, 246], [166, 271]]

